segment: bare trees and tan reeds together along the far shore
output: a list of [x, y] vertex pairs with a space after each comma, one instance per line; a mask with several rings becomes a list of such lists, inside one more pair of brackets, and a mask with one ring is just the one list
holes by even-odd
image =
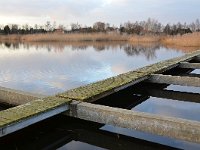
[[0, 42], [158, 42], [164, 46], [200, 47], [200, 20], [162, 24], [156, 19], [127, 21], [120, 25], [71, 23], [70, 28], [47, 21], [33, 26], [0, 25]]

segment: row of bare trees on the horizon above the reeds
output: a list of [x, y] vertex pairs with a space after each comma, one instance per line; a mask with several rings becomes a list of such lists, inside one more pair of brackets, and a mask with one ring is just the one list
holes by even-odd
[[183, 35], [186, 33], [200, 32], [200, 21], [192, 23], [176, 23], [163, 25], [159, 21], [149, 18], [146, 21], [127, 21], [120, 24], [119, 27], [111, 26], [105, 22], [95, 22], [93, 26], [82, 26], [79, 23], [71, 23], [70, 29], [67, 29], [64, 25], [56, 25], [56, 22], [51, 23], [47, 21], [44, 25], [35, 24], [34, 27], [28, 24], [19, 26], [17, 24], [0, 25], [0, 34], [37, 34], [37, 33], [52, 33], [60, 32], [63, 33], [94, 33], [94, 32], [118, 32], [120, 34], [166, 34], [166, 35]]

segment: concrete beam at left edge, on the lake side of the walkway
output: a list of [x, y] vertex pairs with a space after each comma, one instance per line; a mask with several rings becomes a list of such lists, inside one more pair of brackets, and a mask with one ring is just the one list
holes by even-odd
[[0, 87], [0, 102], [8, 105], [17, 106], [44, 97], [46, 96], [41, 94]]

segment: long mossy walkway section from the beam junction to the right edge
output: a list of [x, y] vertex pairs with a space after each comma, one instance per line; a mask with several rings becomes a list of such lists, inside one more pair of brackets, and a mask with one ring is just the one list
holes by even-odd
[[[100, 97], [100, 95], [102, 95], [102, 96], [108, 95], [109, 93], [113, 93], [112, 91], [114, 91], [115, 89], [119, 89], [119, 90], [123, 89], [123, 86], [126, 84], [129, 84], [133, 81], [140, 80], [142, 78], [148, 78], [149, 75], [151, 75], [151, 74], [161, 73], [163, 71], [169, 70], [173, 67], [178, 66], [179, 63], [181, 63], [181, 62], [189, 61], [199, 55], [200, 55], [200, 50], [186, 54], [186, 55], [178, 57], [178, 58], [172, 58], [169, 60], [161, 61], [156, 64], [152, 64], [152, 65], [137, 69], [135, 71], [130, 71], [128, 73], [120, 74], [118, 76], [106, 79], [106, 80], [117, 80], [118, 78], [123, 78], [123, 76], [127, 76], [127, 75], [129, 77], [131, 76], [130, 78], [132, 78], [132, 80], [130, 80], [130, 78], [127, 78], [127, 79], [125, 79], [125, 82], [123, 82], [122, 84], [114, 84], [113, 87], [108, 88], [107, 87], [108, 85], [105, 84], [104, 88], [99, 89], [98, 86], [101, 86], [104, 82], [106, 82], [106, 80], [102, 80], [102, 81], [88, 84], [86, 86], [81, 86], [79, 88], [75, 88], [75, 89], [66, 91], [64, 93], [59, 93], [56, 96], [62, 97], [62, 98], [70, 98], [70, 99], [74, 99], [74, 100], [90, 102], [92, 99], [95, 99], [95, 97], [98, 98], [98, 97]], [[138, 74], [138, 76], [134, 76], [134, 74]], [[137, 82], [135, 82], [135, 83], [137, 83]], [[129, 85], [131, 86], [133, 84], [129, 84]], [[90, 89], [90, 88], [92, 88], [93, 91], [92, 92], [89, 91], [90, 92], [89, 94], [84, 91], [85, 89]], [[81, 94], [80, 95], [73, 94], [75, 92], [81, 93]]]

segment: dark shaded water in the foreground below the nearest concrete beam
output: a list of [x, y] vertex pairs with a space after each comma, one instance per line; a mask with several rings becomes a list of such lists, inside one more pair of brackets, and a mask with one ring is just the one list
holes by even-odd
[[[158, 143], [108, 132], [102, 124], [55, 116], [0, 139], [1, 149], [175, 149]], [[89, 128], [88, 128], [89, 127]], [[15, 139], [15, 140], [13, 140]]]

